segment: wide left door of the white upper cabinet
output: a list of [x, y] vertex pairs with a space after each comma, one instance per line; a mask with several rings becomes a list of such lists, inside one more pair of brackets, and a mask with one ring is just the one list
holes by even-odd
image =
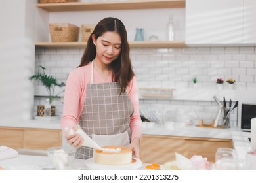
[[186, 0], [186, 44], [242, 43], [243, 0]]

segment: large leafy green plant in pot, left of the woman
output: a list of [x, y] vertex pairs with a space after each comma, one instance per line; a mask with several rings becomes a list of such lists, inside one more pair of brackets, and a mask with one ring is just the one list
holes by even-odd
[[[53, 102], [54, 96], [54, 89], [56, 86], [65, 86], [64, 82], [58, 83], [56, 78], [51, 75], [45, 74], [45, 67], [40, 65], [40, 68], [43, 70], [43, 73], [36, 73], [33, 76], [30, 76], [30, 80], [39, 80], [45, 86], [48, 96], [49, 96], [49, 104], [51, 105]], [[58, 93], [59, 94], [59, 93]], [[44, 116], [44, 107], [43, 105], [37, 106], [37, 116]], [[55, 116], [55, 106], [51, 105], [51, 116]]]

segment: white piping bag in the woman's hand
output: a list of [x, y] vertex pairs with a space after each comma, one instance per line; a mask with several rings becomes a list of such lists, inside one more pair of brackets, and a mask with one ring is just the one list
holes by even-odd
[[82, 146], [86, 146], [89, 148], [94, 148], [94, 149], [98, 149], [98, 150], [104, 150], [104, 148], [100, 147], [98, 144], [96, 144], [95, 141], [93, 141], [93, 139], [91, 139], [91, 137], [89, 137], [89, 135], [87, 135], [83, 129], [81, 129], [81, 127], [78, 125], [78, 129], [76, 131], [74, 131], [74, 129], [68, 129], [68, 127], [65, 127], [65, 130], [68, 131], [68, 135], [74, 135], [74, 133], [77, 133], [79, 135], [81, 135], [83, 137], [83, 144]]

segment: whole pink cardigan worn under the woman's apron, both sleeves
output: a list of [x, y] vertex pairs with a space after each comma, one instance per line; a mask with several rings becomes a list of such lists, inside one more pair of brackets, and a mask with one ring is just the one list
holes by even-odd
[[[107, 81], [99, 75], [96, 69], [93, 70], [94, 81], [93, 83], [104, 83], [112, 82], [111, 76]], [[70, 72], [68, 80], [66, 82], [65, 93], [64, 93], [64, 105], [63, 105], [63, 116], [61, 120], [62, 129], [65, 127], [71, 128], [73, 125], [78, 124], [83, 110], [83, 105], [86, 96], [87, 84], [90, 83], [91, 79], [91, 63], [78, 67]], [[137, 93], [137, 84], [135, 77], [131, 80], [127, 87], [127, 92], [131, 103], [133, 103], [134, 112], [131, 116], [131, 138], [132, 141], [135, 137], [139, 137], [141, 140], [141, 118], [139, 114], [139, 100]]]

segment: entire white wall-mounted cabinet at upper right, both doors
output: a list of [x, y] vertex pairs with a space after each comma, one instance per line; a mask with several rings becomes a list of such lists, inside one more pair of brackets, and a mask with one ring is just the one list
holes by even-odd
[[186, 1], [186, 44], [255, 44], [255, 4], [253, 0]]

